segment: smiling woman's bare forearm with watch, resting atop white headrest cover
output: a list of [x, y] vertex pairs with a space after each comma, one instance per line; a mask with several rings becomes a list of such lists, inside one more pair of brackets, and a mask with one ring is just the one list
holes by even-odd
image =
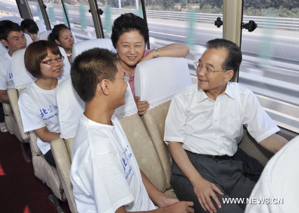
[[[164, 47], [159, 47], [159, 56], [168, 56], [168, 57], [186, 57], [189, 53], [189, 47], [184, 44], [168, 44]], [[147, 55], [145, 55], [141, 61], [149, 60], [151, 58], [156, 58], [156, 51], [151, 50]]]

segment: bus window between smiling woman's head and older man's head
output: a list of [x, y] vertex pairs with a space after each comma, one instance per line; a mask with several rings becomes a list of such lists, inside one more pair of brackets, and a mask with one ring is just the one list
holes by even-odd
[[162, 2], [146, 1], [150, 48], [172, 42], [187, 44], [190, 48], [187, 56], [190, 73], [196, 76], [193, 62], [198, 61], [205, 51], [205, 43], [210, 39], [222, 38], [222, 27], [218, 28], [214, 23], [217, 17], [223, 19], [223, 1]]

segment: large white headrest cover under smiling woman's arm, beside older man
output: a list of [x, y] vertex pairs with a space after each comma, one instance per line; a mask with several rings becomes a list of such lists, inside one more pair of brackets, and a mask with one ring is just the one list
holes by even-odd
[[171, 100], [173, 95], [191, 84], [184, 58], [159, 57], [136, 66], [135, 95], [148, 101], [150, 108]]

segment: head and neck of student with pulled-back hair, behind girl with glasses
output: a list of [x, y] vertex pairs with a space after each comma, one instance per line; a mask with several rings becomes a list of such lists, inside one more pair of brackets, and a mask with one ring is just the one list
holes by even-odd
[[67, 58], [72, 64], [72, 48], [75, 43], [71, 30], [64, 24], [57, 24], [53, 27], [48, 36], [48, 41], [56, 43], [65, 50]]

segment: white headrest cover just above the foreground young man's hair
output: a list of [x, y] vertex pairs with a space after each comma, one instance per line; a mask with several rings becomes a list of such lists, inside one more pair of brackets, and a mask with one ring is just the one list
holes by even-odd
[[115, 48], [112, 45], [111, 39], [108, 38], [97, 38], [97, 39], [90, 39], [85, 41], [80, 41], [75, 43], [72, 49], [72, 58], [74, 59], [80, 55], [83, 51], [92, 49], [94, 47], [99, 48], [106, 48], [113, 52], [116, 52]]

